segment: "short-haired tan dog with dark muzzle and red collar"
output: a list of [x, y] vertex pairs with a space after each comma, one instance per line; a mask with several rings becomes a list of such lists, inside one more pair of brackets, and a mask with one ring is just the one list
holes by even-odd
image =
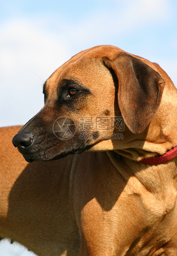
[[99, 46], [57, 69], [44, 96], [13, 143], [28, 162], [58, 160], [10, 178], [2, 235], [42, 256], [177, 255], [177, 90], [167, 74]]

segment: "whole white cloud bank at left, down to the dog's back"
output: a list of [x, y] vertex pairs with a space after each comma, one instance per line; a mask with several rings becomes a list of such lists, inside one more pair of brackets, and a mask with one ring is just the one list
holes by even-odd
[[23, 124], [44, 104], [40, 85], [69, 56], [62, 41], [27, 19], [9, 21], [0, 34], [0, 126]]

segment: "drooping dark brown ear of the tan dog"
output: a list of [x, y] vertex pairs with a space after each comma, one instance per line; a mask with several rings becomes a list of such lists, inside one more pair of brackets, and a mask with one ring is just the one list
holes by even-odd
[[143, 132], [155, 116], [165, 81], [142, 60], [122, 53], [115, 60], [103, 57], [118, 80], [118, 104], [126, 126], [132, 133]]

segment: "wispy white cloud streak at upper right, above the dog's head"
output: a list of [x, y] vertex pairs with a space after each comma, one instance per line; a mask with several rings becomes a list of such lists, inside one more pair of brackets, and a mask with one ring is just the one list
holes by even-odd
[[124, 4], [113, 1], [115, 9], [93, 12], [81, 24], [68, 26], [65, 36], [84, 44], [105, 36], [122, 36], [155, 21], [162, 23], [170, 16], [167, 0], [126, 0]]

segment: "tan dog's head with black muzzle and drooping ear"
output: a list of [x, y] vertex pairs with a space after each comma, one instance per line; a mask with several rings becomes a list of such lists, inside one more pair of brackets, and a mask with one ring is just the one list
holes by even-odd
[[13, 144], [26, 161], [121, 148], [120, 138], [142, 133], [154, 118], [164, 85], [158, 72], [117, 47], [85, 50], [47, 79], [44, 107]]

